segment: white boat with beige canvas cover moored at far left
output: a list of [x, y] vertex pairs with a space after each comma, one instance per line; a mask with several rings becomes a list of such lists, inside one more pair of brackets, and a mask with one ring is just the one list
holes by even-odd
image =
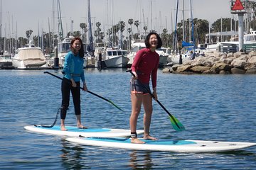
[[25, 47], [20, 47], [11, 57], [12, 64], [16, 69], [38, 69], [46, 64], [46, 57], [41, 47], [35, 47], [33, 41], [29, 41]]

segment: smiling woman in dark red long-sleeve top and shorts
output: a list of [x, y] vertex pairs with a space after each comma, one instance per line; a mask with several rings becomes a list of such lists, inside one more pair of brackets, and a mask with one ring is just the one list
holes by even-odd
[[[157, 33], [149, 33], [145, 40], [146, 48], [139, 50], [132, 63], [132, 72], [135, 77], [132, 77], [131, 87], [131, 101], [132, 101], [132, 113], [130, 117], [130, 128], [132, 143], [144, 143], [137, 138], [137, 120], [139, 112], [144, 106], [144, 139], [158, 140], [155, 137], [149, 135], [149, 128], [151, 123], [152, 97], [146, 89], [149, 89], [149, 80], [151, 77], [151, 83], [153, 88], [154, 99], [157, 99], [156, 95], [156, 77], [157, 69], [159, 67], [159, 55], [156, 53], [156, 49], [161, 47], [161, 38]], [[146, 87], [146, 89], [145, 89]]]

